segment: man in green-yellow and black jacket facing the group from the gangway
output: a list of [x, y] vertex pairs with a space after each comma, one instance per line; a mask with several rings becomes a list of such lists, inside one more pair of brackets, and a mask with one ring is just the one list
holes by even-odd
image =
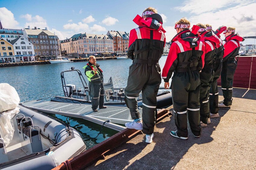
[[83, 67], [84, 73], [89, 80], [89, 90], [92, 98], [92, 110], [98, 112], [100, 109], [107, 108], [104, 105], [104, 87], [103, 87], [103, 71], [100, 69], [99, 64], [96, 64], [96, 58], [91, 55], [89, 62]]

